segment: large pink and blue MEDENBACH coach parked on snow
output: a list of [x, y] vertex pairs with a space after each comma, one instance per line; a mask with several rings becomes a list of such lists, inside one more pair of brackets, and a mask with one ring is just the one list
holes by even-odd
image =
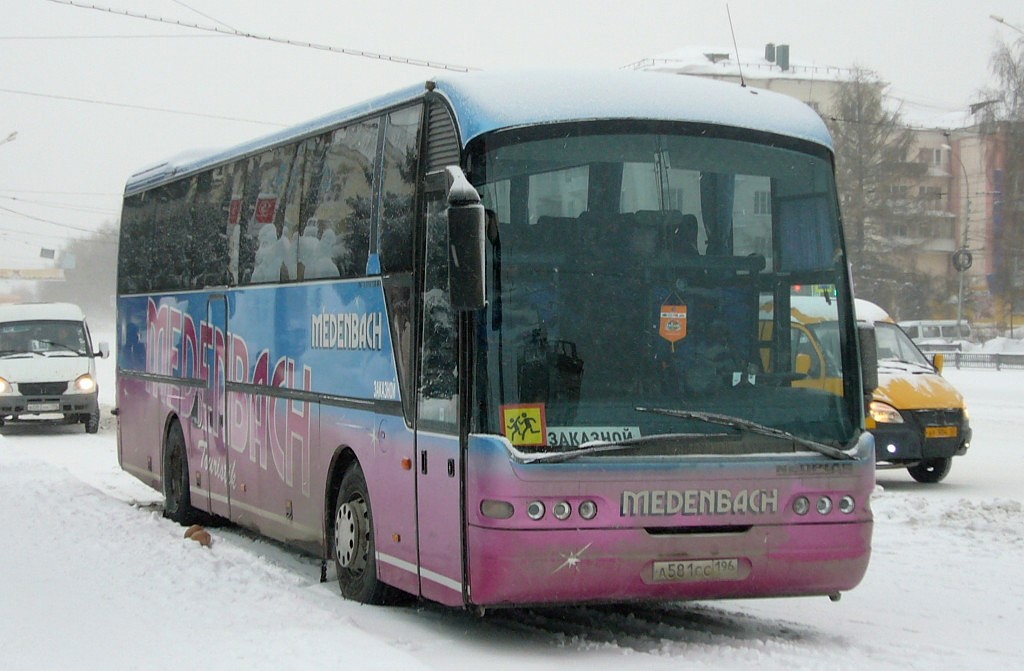
[[[139, 172], [120, 463], [362, 602], [838, 598], [876, 373], [833, 156], [769, 91], [472, 73]], [[835, 388], [800, 384], [808, 286]]]

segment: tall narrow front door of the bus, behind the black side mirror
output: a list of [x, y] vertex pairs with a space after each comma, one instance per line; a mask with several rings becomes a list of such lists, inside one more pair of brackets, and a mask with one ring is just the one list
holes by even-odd
[[417, 529], [420, 593], [463, 600], [462, 449], [459, 442], [459, 314], [447, 294], [444, 192], [428, 195], [417, 397]]

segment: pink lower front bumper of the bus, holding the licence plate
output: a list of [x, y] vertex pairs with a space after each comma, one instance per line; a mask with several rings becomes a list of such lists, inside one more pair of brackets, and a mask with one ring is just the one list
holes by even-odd
[[475, 605], [833, 595], [863, 578], [872, 522], [711, 534], [469, 528]]

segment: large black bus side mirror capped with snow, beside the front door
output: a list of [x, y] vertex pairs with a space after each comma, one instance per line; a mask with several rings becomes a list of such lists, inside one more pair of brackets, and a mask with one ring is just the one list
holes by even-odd
[[458, 166], [444, 170], [449, 185], [449, 297], [456, 309], [477, 310], [486, 305], [483, 205]]

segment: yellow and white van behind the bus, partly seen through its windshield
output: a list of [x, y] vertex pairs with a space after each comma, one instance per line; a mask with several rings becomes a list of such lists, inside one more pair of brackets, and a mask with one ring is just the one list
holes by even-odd
[[[823, 347], [839, 337], [834, 310], [820, 296], [794, 296], [792, 370], [801, 375], [794, 385], [843, 393], [839, 363], [828, 361]], [[878, 468], [906, 468], [920, 483], [938, 483], [949, 473], [952, 458], [971, 445], [971, 423], [964, 396], [942, 377], [943, 355], [929, 360], [889, 314], [856, 299], [857, 319], [874, 326], [879, 386], [869, 406], [867, 427], [874, 435]], [[762, 342], [770, 341], [770, 322], [762, 321]], [[766, 331], [767, 330], [767, 331]], [[767, 357], [762, 354], [763, 363]]]

